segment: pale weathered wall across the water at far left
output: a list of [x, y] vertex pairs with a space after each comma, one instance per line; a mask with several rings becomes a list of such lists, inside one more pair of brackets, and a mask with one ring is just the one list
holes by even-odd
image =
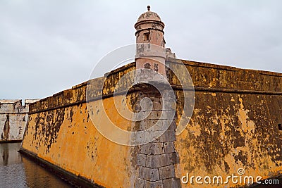
[[29, 105], [39, 99], [0, 100], [0, 142], [16, 142], [23, 139]]

